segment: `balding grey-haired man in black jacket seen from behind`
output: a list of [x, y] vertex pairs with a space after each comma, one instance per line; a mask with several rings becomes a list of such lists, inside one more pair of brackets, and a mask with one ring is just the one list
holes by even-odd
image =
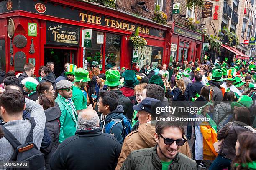
[[99, 128], [97, 112], [86, 109], [78, 115], [79, 129], [62, 142], [52, 155], [52, 170], [113, 170], [121, 152], [121, 144]]

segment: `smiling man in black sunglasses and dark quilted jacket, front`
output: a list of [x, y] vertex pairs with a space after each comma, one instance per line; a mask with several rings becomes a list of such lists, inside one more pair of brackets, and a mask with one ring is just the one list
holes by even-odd
[[185, 144], [184, 128], [179, 122], [159, 121], [154, 133], [157, 144], [153, 148], [133, 151], [121, 170], [197, 170], [194, 160], [179, 153]]

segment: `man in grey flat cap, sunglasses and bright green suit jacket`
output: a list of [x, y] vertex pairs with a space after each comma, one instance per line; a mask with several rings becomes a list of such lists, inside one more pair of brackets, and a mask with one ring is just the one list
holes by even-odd
[[55, 102], [58, 103], [61, 110], [61, 117], [59, 118], [61, 124], [59, 143], [73, 136], [77, 131], [77, 110], [71, 99], [72, 86], [72, 82], [68, 80], [61, 80], [56, 83], [58, 97], [55, 99]]

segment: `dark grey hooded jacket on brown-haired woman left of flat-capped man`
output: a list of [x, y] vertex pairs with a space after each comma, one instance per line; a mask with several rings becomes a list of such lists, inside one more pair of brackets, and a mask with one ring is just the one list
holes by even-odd
[[48, 154], [45, 154], [45, 166], [46, 170], [50, 168], [50, 158], [51, 155], [55, 152], [55, 150], [59, 147], [59, 133], [60, 133], [60, 122], [59, 117], [61, 116], [61, 110], [59, 105], [55, 103], [54, 107], [50, 107], [47, 110], [44, 110], [46, 117], [46, 129], [51, 136], [51, 147], [47, 147], [46, 150], [49, 150]]

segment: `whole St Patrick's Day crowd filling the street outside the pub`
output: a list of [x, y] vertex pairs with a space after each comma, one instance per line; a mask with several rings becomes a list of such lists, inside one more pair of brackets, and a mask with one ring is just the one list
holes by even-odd
[[[31, 63], [17, 75], [2, 71], [0, 162], [26, 160], [42, 170], [256, 170], [255, 71], [253, 58], [207, 56], [105, 73], [65, 63], [59, 77], [53, 62], [36, 78]], [[168, 107], [190, 111], [158, 110]]]

